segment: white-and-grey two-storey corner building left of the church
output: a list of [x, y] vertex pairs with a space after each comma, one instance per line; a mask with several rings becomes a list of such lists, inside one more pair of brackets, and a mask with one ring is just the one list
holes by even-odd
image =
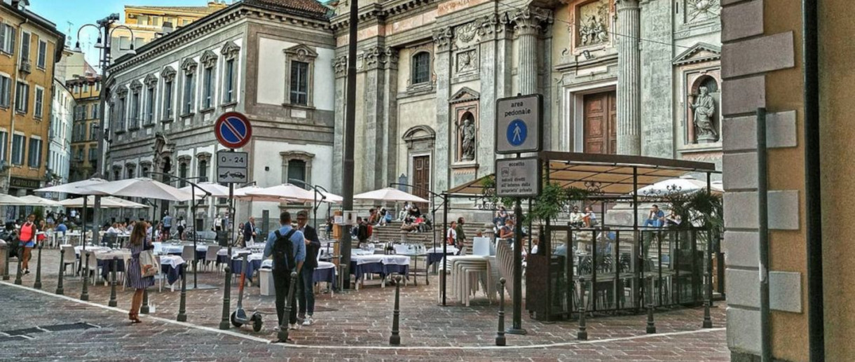
[[[238, 111], [253, 126], [242, 149], [250, 154], [250, 180], [267, 187], [298, 178], [330, 188], [334, 43], [326, 13], [314, 0], [245, 0], [115, 61], [106, 89], [107, 177], [163, 172], [215, 182], [214, 157], [223, 147], [214, 122]], [[213, 214], [227, 211], [225, 200], [206, 202], [193, 218], [205, 229]], [[186, 204], [173, 206], [187, 215]], [[244, 203], [238, 218], [277, 207]]]

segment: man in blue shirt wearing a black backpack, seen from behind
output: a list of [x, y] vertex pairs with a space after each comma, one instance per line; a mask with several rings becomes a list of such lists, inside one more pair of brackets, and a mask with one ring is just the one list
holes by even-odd
[[[291, 213], [282, 212], [279, 217], [280, 229], [273, 231], [268, 236], [264, 245], [263, 258], [273, 256], [273, 283], [276, 289], [276, 317], [279, 324], [274, 330], [279, 330], [282, 318], [288, 318], [288, 329], [297, 330], [297, 295], [294, 294], [291, 301], [291, 312], [285, 316], [285, 300], [288, 289], [291, 288], [292, 271], [299, 272], [303, 268], [306, 258], [306, 246], [303, 232], [294, 229], [291, 225]], [[282, 341], [285, 342], [285, 341]]]

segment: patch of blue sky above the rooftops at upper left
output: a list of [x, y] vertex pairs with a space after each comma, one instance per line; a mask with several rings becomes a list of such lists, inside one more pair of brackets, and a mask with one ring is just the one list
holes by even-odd
[[[112, 13], [119, 13], [124, 20], [126, 4], [204, 6], [207, 3], [208, 0], [30, 0], [29, 9], [56, 23], [57, 29], [70, 38], [70, 45], [74, 48], [80, 26], [94, 24], [96, 20]], [[80, 32], [80, 48], [86, 53], [86, 60], [92, 66], [97, 66], [97, 49], [92, 47], [96, 40], [95, 28], [87, 26]]]

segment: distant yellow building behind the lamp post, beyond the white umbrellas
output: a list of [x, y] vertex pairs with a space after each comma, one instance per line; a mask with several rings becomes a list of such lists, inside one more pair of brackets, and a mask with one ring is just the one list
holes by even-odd
[[101, 158], [97, 142], [101, 134], [98, 128], [101, 120], [101, 76], [69, 79], [65, 86], [77, 101], [72, 118], [71, 172], [68, 179], [80, 181], [92, 176]]

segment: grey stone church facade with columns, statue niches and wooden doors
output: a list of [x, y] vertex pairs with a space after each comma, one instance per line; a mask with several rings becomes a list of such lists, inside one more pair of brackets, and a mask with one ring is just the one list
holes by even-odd
[[[349, 4], [333, 6], [340, 164]], [[492, 173], [495, 102], [517, 94], [544, 96], [545, 149], [720, 164], [717, 0], [360, 7], [357, 192], [399, 179], [441, 191]]]

